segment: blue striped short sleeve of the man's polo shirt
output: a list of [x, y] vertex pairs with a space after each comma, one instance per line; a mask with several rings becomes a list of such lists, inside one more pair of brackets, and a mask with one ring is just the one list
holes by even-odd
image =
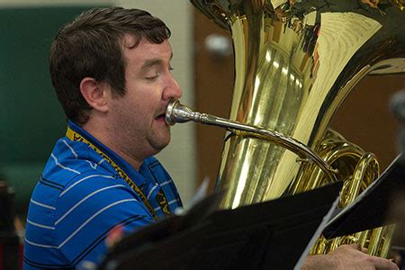
[[79, 175], [59, 194], [57, 208], [58, 249], [73, 266], [99, 264], [113, 228], [130, 232], [154, 222], [136, 193], [109, 175]]

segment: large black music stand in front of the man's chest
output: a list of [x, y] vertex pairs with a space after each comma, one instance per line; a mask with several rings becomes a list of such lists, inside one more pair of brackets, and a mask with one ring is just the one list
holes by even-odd
[[212, 211], [220, 199], [214, 194], [184, 216], [124, 238], [100, 268], [293, 269], [340, 188], [220, 211]]

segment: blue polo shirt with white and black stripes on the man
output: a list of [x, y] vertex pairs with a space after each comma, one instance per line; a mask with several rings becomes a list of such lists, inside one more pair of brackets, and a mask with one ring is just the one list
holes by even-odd
[[[145, 159], [137, 171], [74, 122], [68, 125], [130, 177], [158, 219], [166, 215], [157, 193], [165, 194], [171, 212], [182, 206], [173, 180], [155, 157]], [[83, 261], [98, 264], [113, 228], [121, 226], [129, 233], [155, 221], [105, 156], [85, 142], [58, 139], [31, 195], [24, 269], [75, 268]]]

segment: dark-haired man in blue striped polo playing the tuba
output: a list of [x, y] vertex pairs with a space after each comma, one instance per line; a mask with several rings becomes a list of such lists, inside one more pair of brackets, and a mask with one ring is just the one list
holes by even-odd
[[[120, 7], [88, 10], [58, 31], [49, 68], [67, 135], [31, 195], [25, 269], [96, 266], [117, 227], [133, 232], [182, 205], [153, 157], [170, 141], [166, 105], [182, 95], [169, 36], [148, 12]], [[308, 257], [303, 268], [397, 266], [351, 245]]]

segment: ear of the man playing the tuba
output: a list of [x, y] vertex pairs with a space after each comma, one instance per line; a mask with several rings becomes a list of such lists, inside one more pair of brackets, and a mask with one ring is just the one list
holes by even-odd
[[80, 92], [85, 101], [98, 112], [108, 112], [109, 85], [98, 83], [94, 77], [85, 77], [80, 82]]

